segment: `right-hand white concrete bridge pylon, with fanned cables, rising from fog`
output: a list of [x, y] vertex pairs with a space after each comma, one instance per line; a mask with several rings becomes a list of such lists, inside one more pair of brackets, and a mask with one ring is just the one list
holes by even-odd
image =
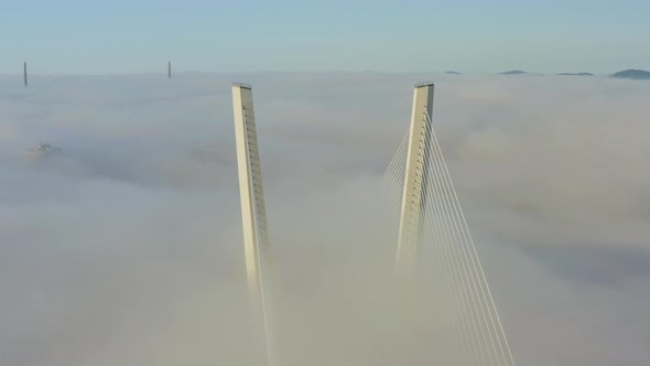
[[410, 271], [414, 266], [416, 245], [423, 207], [426, 203], [426, 190], [423, 186], [426, 169], [426, 155], [430, 149], [430, 128], [427, 116], [433, 110], [432, 83], [416, 84], [413, 90], [413, 108], [411, 111], [411, 127], [409, 130], [409, 146], [407, 148], [407, 170], [402, 192], [400, 213], [400, 229], [396, 256], [398, 273]]

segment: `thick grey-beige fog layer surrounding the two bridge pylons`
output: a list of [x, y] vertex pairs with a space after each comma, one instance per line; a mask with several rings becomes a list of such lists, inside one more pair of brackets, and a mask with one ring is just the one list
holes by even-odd
[[232, 80], [253, 84], [278, 365], [453, 364], [445, 314], [392, 288], [379, 184], [430, 78], [518, 364], [647, 365], [650, 84], [372, 73], [0, 78], [0, 364], [259, 363]]

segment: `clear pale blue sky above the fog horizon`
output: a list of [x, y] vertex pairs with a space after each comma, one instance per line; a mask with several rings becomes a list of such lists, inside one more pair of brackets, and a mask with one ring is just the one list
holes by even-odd
[[0, 74], [650, 69], [650, 1], [0, 1]]

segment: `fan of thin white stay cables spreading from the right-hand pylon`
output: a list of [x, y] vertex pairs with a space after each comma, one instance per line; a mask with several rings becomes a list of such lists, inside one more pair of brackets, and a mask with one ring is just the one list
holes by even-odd
[[[448, 332], [458, 343], [458, 365], [468, 358], [465, 362], [473, 365], [513, 366], [431, 116], [426, 107], [422, 112], [424, 123], [415, 120], [411, 127], [421, 131], [408, 131], [382, 177], [393, 208], [401, 204], [400, 246], [410, 251], [404, 258], [412, 258], [407, 262], [418, 268], [423, 283], [447, 293], [438, 302], [451, 312], [451, 321], [442, 324], [441, 333]], [[409, 192], [407, 180], [412, 184]]]

